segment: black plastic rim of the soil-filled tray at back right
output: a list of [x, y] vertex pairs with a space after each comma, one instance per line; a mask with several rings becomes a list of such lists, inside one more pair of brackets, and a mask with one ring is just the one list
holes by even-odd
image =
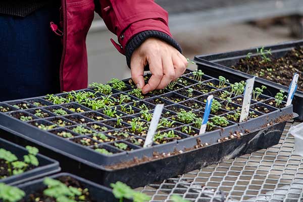
[[[303, 45], [303, 40], [284, 42], [276, 45], [265, 46], [265, 49], [271, 49], [273, 57], [278, 58], [284, 56], [287, 52], [295, 47]], [[258, 47], [259, 49], [261, 47]], [[218, 78], [219, 75], [228, 77], [231, 82], [241, 81], [251, 78], [252, 75], [230, 68], [238, 63], [240, 59], [246, 58], [248, 53], [252, 53], [251, 57], [258, 56], [256, 48], [244, 49], [241, 51], [211, 54], [211, 55], [198, 55], [194, 57], [198, 68], [210, 76]], [[299, 79], [301, 77], [301, 72]], [[256, 78], [255, 86], [267, 86], [264, 94], [274, 96], [279, 90], [288, 91], [288, 86], [283, 86], [275, 82]], [[303, 120], [303, 92], [297, 90], [293, 97], [293, 111], [299, 116], [296, 118], [298, 121]]]

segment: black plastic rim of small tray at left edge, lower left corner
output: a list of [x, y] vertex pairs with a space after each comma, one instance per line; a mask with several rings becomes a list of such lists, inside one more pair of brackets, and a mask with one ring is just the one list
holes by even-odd
[[[11, 153], [16, 155], [19, 160], [23, 160], [23, 156], [28, 154], [28, 151], [24, 147], [9, 142], [2, 138], [0, 138], [0, 148], [11, 151]], [[37, 159], [39, 161], [39, 166], [37, 168], [26, 171], [22, 174], [0, 179], [0, 182], [15, 185], [46, 175], [51, 175], [61, 170], [59, 167], [59, 163], [53, 159], [49, 159], [48, 157], [42, 156], [40, 154], [37, 155]]]

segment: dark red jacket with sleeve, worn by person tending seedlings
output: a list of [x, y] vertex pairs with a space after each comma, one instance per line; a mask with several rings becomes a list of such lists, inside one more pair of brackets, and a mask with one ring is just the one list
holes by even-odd
[[[63, 55], [60, 66], [62, 91], [87, 87], [86, 35], [96, 11], [118, 36], [115, 47], [125, 53], [127, 42], [146, 30], [171, 36], [168, 14], [153, 0], [62, 0]], [[121, 44], [121, 45], [120, 45]], [[102, 61], [100, 61], [102, 62]], [[106, 67], [100, 67], [106, 68]]]

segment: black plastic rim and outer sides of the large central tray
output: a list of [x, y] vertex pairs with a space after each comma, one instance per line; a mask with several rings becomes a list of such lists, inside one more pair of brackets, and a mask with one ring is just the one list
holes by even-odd
[[[188, 82], [188, 84], [190, 84], [186, 87], [194, 86], [197, 83], [197, 81], [190, 79], [190, 77], [191, 72], [187, 70], [186, 74], [182, 77]], [[204, 75], [203, 79], [205, 85], [210, 84], [210, 82], [214, 84], [218, 82], [217, 79], [214, 79], [207, 75]], [[226, 84], [229, 85], [228, 83]], [[178, 87], [184, 86], [178, 85]], [[176, 105], [169, 99], [171, 99], [172, 96], [177, 96], [181, 99], [184, 98], [186, 100], [195, 100], [195, 102], [200, 105], [200, 110], [203, 110], [205, 106], [205, 104], [203, 103], [203, 99], [207, 97], [207, 94], [199, 95], [194, 98], [188, 98], [186, 96], [178, 94], [178, 90], [179, 89], [174, 90], [173, 93], [169, 90], [166, 94], [161, 94], [159, 96], [155, 96], [154, 98], [145, 98], [142, 102], [148, 104], [148, 102], [150, 103], [156, 98], [158, 98], [162, 103], [165, 103], [165, 108], [169, 108], [170, 106]], [[114, 94], [114, 96], [117, 96], [118, 94], [119, 93]], [[201, 100], [202, 102], [197, 101], [201, 97], [203, 97], [203, 99]], [[43, 97], [40, 98], [43, 99]], [[21, 100], [14, 100], [13, 102], [8, 101], [5, 105], [8, 105], [10, 108], [12, 108], [12, 104], [16, 104], [20, 101]], [[23, 102], [26, 101], [23, 100]], [[182, 107], [183, 105], [182, 108], [186, 109], [186, 107], [184, 107], [184, 103], [185, 101], [182, 101], [176, 106]], [[263, 103], [258, 104], [264, 105]], [[0, 105], [3, 104], [0, 103]], [[66, 105], [62, 106], [64, 108]], [[153, 106], [154, 105], [149, 105], [151, 109], [153, 108]], [[77, 107], [79, 107], [78, 104]], [[83, 176], [99, 184], [109, 185], [111, 182], [116, 182], [119, 180], [126, 182], [132, 187], [138, 187], [154, 182], [155, 180], [163, 180], [168, 177], [173, 177], [178, 174], [188, 172], [190, 170], [218, 163], [224, 158], [233, 158], [238, 155], [250, 153], [251, 151], [266, 148], [268, 146], [278, 143], [279, 137], [281, 136], [283, 128], [285, 126], [285, 122], [291, 117], [287, 117], [286, 119], [283, 119], [281, 121], [275, 121], [281, 116], [293, 115], [292, 106], [284, 107], [282, 109], [273, 108], [267, 105], [265, 105], [265, 107], [272, 109], [273, 111], [268, 114], [261, 113], [258, 118], [250, 119], [243, 123], [230, 122], [231, 125], [228, 127], [219, 128], [217, 130], [207, 132], [202, 135], [188, 136], [184, 133], [179, 133], [181, 137], [184, 137], [184, 139], [179, 139], [166, 144], [156, 145], [154, 143], [154, 145], [151, 147], [142, 148], [140, 146], [128, 143], [126, 141], [127, 139], [125, 139], [122, 140], [122, 142], [127, 143], [130, 147], [133, 148], [133, 150], [120, 150], [120, 153], [111, 156], [99, 154], [91, 147], [85, 147], [81, 144], [77, 144], [73, 141], [70, 141], [71, 139], [75, 139], [78, 137], [85, 137], [91, 139], [91, 136], [89, 135], [79, 135], [72, 132], [75, 135], [74, 138], [63, 139], [62, 137], [59, 137], [49, 131], [40, 130], [35, 126], [28, 124], [31, 123], [31, 121], [23, 122], [16, 118], [13, 118], [12, 116], [10, 116], [11, 112], [0, 113], [0, 128], [2, 128], [3, 131], [9, 131], [11, 133], [4, 133], [4, 135], [2, 135], [4, 138], [7, 138], [22, 145], [29, 144], [31, 142], [33, 145], [38, 146], [42, 153], [47, 154], [48, 156], [60, 161], [63, 171], [75, 173], [79, 176]], [[34, 106], [32, 106], [32, 108], [34, 108]], [[42, 107], [42, 109], [44, 110], [48, 108], [49, 106]], [[13, 110], [13, 113], [17, 111], [17, 109]], [[113, 129], [112, 127], [106, 125], [106, 122], [95, 122], [90, 118], [85, 117], [85, 114], [87, 113], [87, 111], [89, 111], [89, 109], [83, 107], [83, 110], [86, 112], [80, 113], [80, 115], [69, 114], [64, 117], [68, 119], [70, 117], [78, 116], [83, 118], [83, 121], [86, 123], [96, 123], [100, 126], [108, 127], [109, 130]], [[200, 110], [195, 110], [195, 112], [200, 112], [200, 114], [203, 113], [203, 111]], [[25, 114], [27, 113], [27, 111], [22, 110], [19, 112]], [[98, 112], [102, 113], [102, 111]], [[169, 110], [166, 110], [165, 112], [169, 112]], [[37, 117], [33, 115], [31, 116], [39, 123], [43, 123], [45, 125], [50, 123], [47, 121], [50, 118], [37, 119]], [[133, 115], [133, 117], [137, 116], [138, 114]], [[171, 116], [175, 116], [175, 113], [171, 113]], [[61, 116], [57, 117], [65, 119]], [[73, 125], [68, 126], [67, 129], [59, 129], [65, 129], [71, 132], [71, 127], [78, 125], [73, 121], [71, 121], [71, 123]], [[271, 125], [272, 123], [274, 123], [274, 125]], [[126, 127], [128, 126], [127, 123], [124, 124]], [[173, 130], [176, 130], [177, 128]], [[243, 135], [239, 138], [228, 139], [230, 134], [233, 134], [235, 132], [242, 133]], [[218, 140], [222, 138], [227, 138], [228, 140], [224, 142], [218, 142]], [[262, 140], [260, 138], [262, 138]], [[266, 141], [263, 141], [264, 139]], [[193, 149], [194, 146], [197, 145], [197, 142], [199, 140], [204, 144], [204, 147]], [[94, 140], [91, 139], [91, 141]], [[258, 142], [256, 143], [255, 141]], [[110, 144], [111, 143], [109, 142], [98, 143], [97, 145], [106, 146], [106, 148], [110, 151], [119, 151], [119, 149], [111, 146]], [[190, 148], [192, 149], [189, 150]], [[176, 151], [179, 151], [179, 153], [176, 153]], [[165, 158], [158, 158], [145, 162], [143, 161], [138, 165], [125, 164], [125, 162], [132, 162], [134, 159], [140, 160], [144, 157], [154, 158], [156, 153], [160, 155], [165, 154]], [[116, 164], [120, 163], [122, 165], [128, 166], [113, 169], [112, 166], [115, 166]]]

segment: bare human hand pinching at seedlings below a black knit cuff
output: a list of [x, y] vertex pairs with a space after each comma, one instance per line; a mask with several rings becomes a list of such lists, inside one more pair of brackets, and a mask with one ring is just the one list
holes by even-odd
[[[188, 61], [168, 43], [148, 38], [133, 52], [130, 64], [132, 80], [145, 94], [164, 89], [171, 81], [177, 80], [186, 70]], [[147, 64], [152, 75], [145, 85], [143, 74]]]

